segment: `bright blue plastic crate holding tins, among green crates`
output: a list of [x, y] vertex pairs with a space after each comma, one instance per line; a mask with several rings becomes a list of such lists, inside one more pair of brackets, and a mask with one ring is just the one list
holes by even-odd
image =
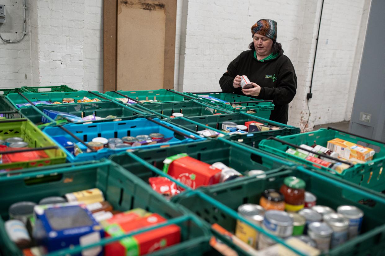
[[[67, 160], [69, 162], [81, 162], [81, 161], [88, 161], [88, 160], [98, 160], [102, 158], [107, 158], [112, 154], [117, 154], [119, 152], [123, 152], [127, 149], [151, 149], [156, 147], [164, 147], [167, 145], [177, 145], [177, 144], [184, 144], [189, 143], [193, 141], [201, 141], [205, 140], [202, 137], [199, 137], [198, 135], [188, 132], [186, 130], [183, 130], [175, 125], [169, 124], [167, 122], [161, 121], [158, 118], [154, 118], [154, 121], [161, 122], [162, 124], [165, 124], [177, 131], [183, 132], [187, 135], [192, 135], [192, 138], [183, 137], [179, 134], [174, 134], [174, 131], [167, 129], [166, 127], [162, 127], [159, 124], [156, 124], [154, 122], [149, 121], [146, 118], [137, 118], [134, 120], [129, 121], [119, 121], [119, 122], [102, 122], [102, 123], [95, 123], [95, 124], [66, 124], [64, 127], [72, 132], [74, 135], [79, 137], [79, 139], [84, 140], [85, 142], [92, 141], [95, 137], [105, 137], [107, 139], [109, 138], [122, 138], [124, 136], [137, 136], [140, 134], [150, 134], [153, 132], [159, 132], [164, 135], [164, 138], [173, 137], [171, 140], [164, 142], [164, 143], [157, 143], [157, 144], [151, 144], [151, 145], [142, 145], [139, 147], [128, 147], [123, 149], [101, 149], [97, 152], [88, 152], [79, 154], [77, 156], [71, 154], [69, 150], [65, 149], [61, 145], [59, 147], [64, 150], [64, 152], [67, 154]], [[52, 140], [55, 141], [54, 137], [58, 136], [64, 136], [67, 140], [77, 143], [78, 141], [75, 140], [71, 135], [69, 135], [64, 130], [60, 129], [60, 127], [46, 127], [44, 129], [44, 133], [47, 134]]]

